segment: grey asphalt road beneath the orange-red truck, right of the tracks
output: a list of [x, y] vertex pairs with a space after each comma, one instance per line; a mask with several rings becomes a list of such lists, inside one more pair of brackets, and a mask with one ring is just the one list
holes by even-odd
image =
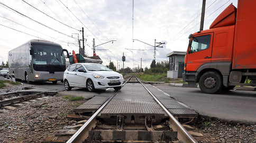
[[226, 120], [256, 122], [256, 91], [231, 90], [204, 94], [199, 88], [154, 85], [200, 115]]

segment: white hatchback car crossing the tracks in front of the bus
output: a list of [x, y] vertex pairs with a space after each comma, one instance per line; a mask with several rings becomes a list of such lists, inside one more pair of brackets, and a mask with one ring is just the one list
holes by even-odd
[[124, 86], [124, 78], [121, 74], [111, 69], [93, 63], [77, 63], [67, 67], [63, 75], [66, 90], [72, 87], [95, 89], [114, 88], [120, 90]]

